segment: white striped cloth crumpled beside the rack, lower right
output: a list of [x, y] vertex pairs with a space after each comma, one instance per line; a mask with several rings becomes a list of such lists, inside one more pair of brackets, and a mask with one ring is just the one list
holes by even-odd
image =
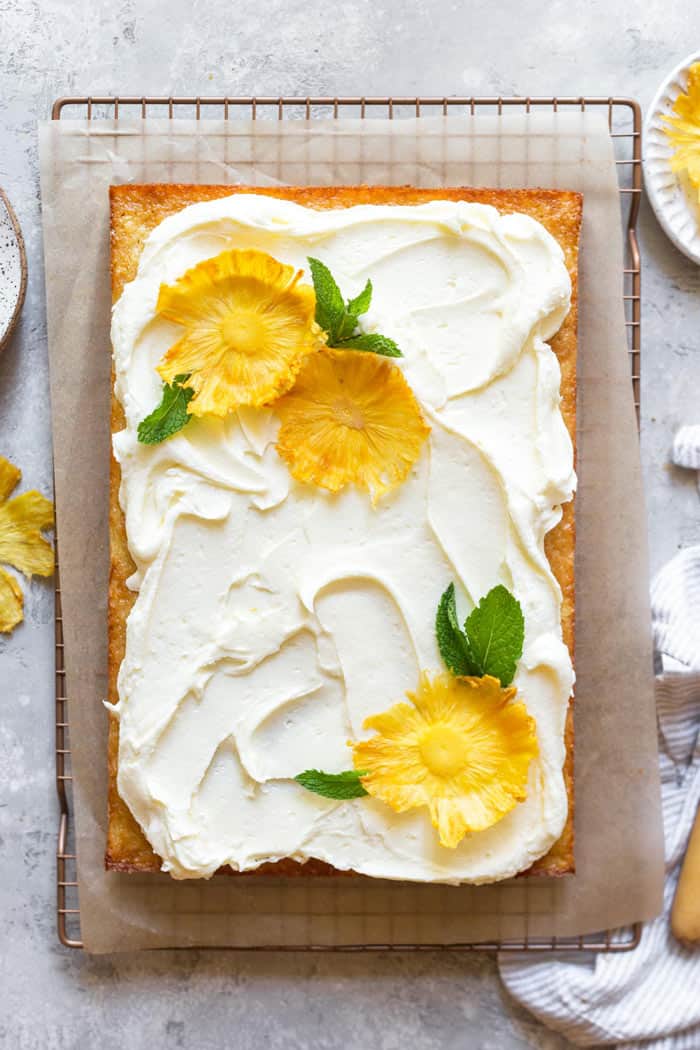
[[[700, 426], [679, 432], [674, 460], [700, 470]], [[499, 967], [511, 995], [576, 1046], [700, 1050], [700, 945], [681, 947], [669, 924], [700, 804], [700, 546], [681, 551], [656, 576], [652, 618], [662, 669], [656, 705], [666, 858], [663, 915], [645, 924], [633, 952], [548, 960], [502, 954]]]

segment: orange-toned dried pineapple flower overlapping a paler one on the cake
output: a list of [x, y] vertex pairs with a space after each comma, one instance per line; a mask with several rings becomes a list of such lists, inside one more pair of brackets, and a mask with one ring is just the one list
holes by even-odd
[[323, 350], [276, 404], [277, 452], [298, 481], [376, 500], [408, 475], [429, 434], [398, 365], [377, 354]]

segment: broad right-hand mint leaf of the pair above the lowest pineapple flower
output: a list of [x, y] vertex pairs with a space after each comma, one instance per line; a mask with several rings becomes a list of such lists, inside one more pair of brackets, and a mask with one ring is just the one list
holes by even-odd
[[525, 618], [519, 602], [503, 585], [494, 587], [469, 613], [464, 625], [473, 674], [491, 674], [509, 686], [523, 655]]

